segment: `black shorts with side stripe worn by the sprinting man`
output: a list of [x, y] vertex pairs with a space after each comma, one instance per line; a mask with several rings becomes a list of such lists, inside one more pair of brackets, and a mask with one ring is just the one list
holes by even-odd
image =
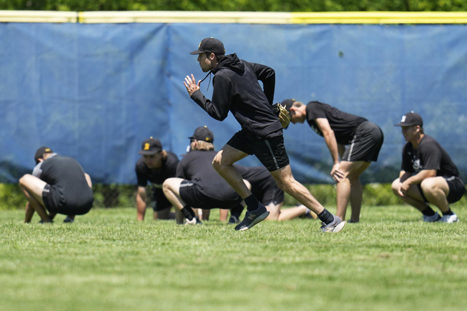
[[269, 172], [281, 169], [289, 164], [282, 130], [270, 133], [268, 138], [251, 139], [243, 130], [238, 131], [227, 144], [249, 155], [255, 155]]

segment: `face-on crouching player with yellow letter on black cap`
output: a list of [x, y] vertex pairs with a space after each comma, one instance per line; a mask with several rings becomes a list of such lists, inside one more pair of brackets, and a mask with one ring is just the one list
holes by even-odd
[[143, 141], [141, 150], [138, 152], [142, 157], [136, 162], [135, 172], [138, 180], [138, 190], [136, 193], [136, 209], [138, 221], [144, 220], [146, 213], [146, 185], [152, 184], [152, 208], [154, 219], [175, 219], [181, 223], [183, 217], [181, 213], [171, 213], [172, 204], [167, 200], [162, 192], [162, 183], [165, 179], [174, 177], [179, 164], [177, 155], [162, 149], [159, 139], [148, 138]]

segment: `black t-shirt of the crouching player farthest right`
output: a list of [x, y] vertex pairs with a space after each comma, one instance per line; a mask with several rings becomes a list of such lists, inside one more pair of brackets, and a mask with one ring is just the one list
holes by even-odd
[[423, 136], [416, 150], [410, 141], [404, 145], [401, 170], [409, 173], [436, 170], [436, 176], [459, 176], [459, 171], [446, 150], [428, 135]]

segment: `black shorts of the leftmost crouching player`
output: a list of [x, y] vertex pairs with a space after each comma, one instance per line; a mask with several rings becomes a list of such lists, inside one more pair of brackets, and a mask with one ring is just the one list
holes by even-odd
[[42, 200], [44, 200], [45, 208], [47, 208], [50, 213], [64, 215], [86, 214], [91, 209], [93, 203], [93, 200], [90, 200], [90, 202], [83, 206], [70, 207], [74, 206], [74, 204], [73, 202], [67, 202], [63, 191], [49, 184], [45, 185], [44, 190], [42, 190]]

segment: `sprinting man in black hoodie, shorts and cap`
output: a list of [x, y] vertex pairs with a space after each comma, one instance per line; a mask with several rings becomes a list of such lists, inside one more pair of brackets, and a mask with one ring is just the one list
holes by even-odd
[[[212, 100], [201, 93], [201, 80], [196, 82], [193, 74], [186, 76], [183, 84], [191, 99], [219, 121], [224, 120], [231, 111], [242, 128], [216, 154], [213, 161], [217, 173], [247, 204], [245, 218], [235, 226], [235, 230], [247, 230], [269, 215], [269, 211], [252, 195], [233, 166], [247, 155], [255, 155], [271, 173], [279, 188], [318, 215], [323, 232], [341, 231], [345, 222], [325, 209], [292, 176], [282, 136], [283, 125], [272, 107], [274, 69], [241, 60], [235, 53], [225, 55], [223, 43], [215, 38], [204, 38], [198, 50], [191, 54], [198, 54], [199, 66], [204, 72], [215, 74]], [[264, 89], [258, 80], [263, 83]]]

